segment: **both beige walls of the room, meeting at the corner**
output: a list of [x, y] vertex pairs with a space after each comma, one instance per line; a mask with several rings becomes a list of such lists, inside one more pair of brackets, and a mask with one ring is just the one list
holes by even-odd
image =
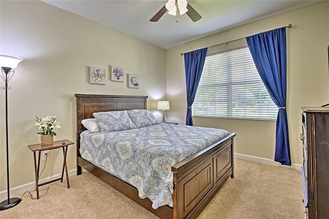
[[[34, 180], [33, 153], [28, 144], [38, 143], [35, 116], [56, 115], [62, 128], [55, 140], [76, 141], [74, 94], [148, 95], [148, 108], [156, 100], [170, 100], [168, 121], [185, 123], [186, 87], [181, 52], [243, 38], [288, 24], [287, 110], [293, 163], [302, 162], [300, 106], [329, 102], [327, 46], [328, 2], [299, 9], [263, 21], [233, 28], [206, 38], [163, 50], [116, 30], [40, 1], [1, 1], [1, 53], [24, 59], [9, 86], [10, 187]], [[124, 67], [140, 76], [140, 88], [107, 80], [88, 83], [88, 66]], [[167, 70], [166, 70], [167, 69]], [[167, 75], [167, 77], [166, 77]], [[1, 81], [3, 86], [3, 81]], [[1, 91], [1, 188], [6, 184], [5, 92]], [[153, 111], [158, 120], [161, 112]], [[220, 127], [237, 134], [235, 152], [273, 159], [273, 121], [193, 118], [195, 125]], [[76, 168], [76, 147], [68, 150], [68, 169]], [[50, 151], [43, 177], [61, 172], [62, 153]], [[43, 161], [41, 162], [43, 166]]]

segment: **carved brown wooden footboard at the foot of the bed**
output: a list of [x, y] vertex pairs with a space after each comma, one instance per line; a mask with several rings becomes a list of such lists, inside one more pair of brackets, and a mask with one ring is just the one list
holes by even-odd
[[233, 137], [176, 163], [173, 218], [196, 218], [224, 182], [234, 177]]

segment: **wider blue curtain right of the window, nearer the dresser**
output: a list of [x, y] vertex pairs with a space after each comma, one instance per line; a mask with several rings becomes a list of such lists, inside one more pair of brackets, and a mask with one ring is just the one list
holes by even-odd
[[286, 28], [248, 36], [248, 47], [259, 75], [279, 107], [275, 161], [291, 165], [286, 111]]

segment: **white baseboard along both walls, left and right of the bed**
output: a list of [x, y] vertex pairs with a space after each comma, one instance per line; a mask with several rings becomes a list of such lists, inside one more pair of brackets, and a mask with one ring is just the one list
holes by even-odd
[[[291, 166], [281, 165], [279, 162], [274, 161], [274, 160], [270, 160], [270, 159], [266, 159], [266, 158], [262, 158], [262, 157], [254, 157], [254, 156], [249, 156], [249, 155], [244, 155], [244, 154], [237, 154], [237, 153], [234, 153], [234, 157], [235, 158], [240, 158], [240, 159], [243, 159], [243, 160], [249, 160], [249, 161], [253, 161], [253, 162], [264, 163], [266, 165], [271, 165], [271, 166], [276, 166], [276, 167], [283, 167], [283, 168], [294, 169], [294, 170], [299, 170], [299, 171], [301, 170], [301, 165], [297, 165], [297, 164], [294, 164], [294, 163], [292, 163]], [[60, 174], [56, 174], [56, 175], [41, 179], [41, 180], [39, 180], [39, 183], [42, 184], [43, 182], [59, 178], [59, 177], [61, 177], [61, 175], [62, 174], [60, 173]], [[75, 176], [75, 175], [77, 175], [77, 169], [73, 169], [73, 170], [68, 171], [68, 176]], [[17, 196], [19, 194], [23, 194], [25, 191], [33, 190], [34, 185], [35, 185], [35, 181], [32, 181], [32, 182], [29, 182], [29, 183], [24, 184], [22, 186], [17, 186], [17, 187], [11, 188], [9, 190], [10, 191], [10, 198], [12, 198], [14, 196]], [[1, 200], [7, 199], [7, 190], [0, 192], [0, 199]]]

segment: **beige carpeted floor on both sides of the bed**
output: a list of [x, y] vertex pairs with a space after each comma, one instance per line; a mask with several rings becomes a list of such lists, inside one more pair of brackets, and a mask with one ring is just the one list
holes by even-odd
[[[88, 172], [69, 180], [69, 189], [65, 181], [50, 184], [39, 200], [26, 193], [19, 205], [1, 211], [0, 217], [158, 218]], [[235, 159], [235, 177], [227, 180], [198, 218], [302, 219], [302, 198], [300, 171]]]

